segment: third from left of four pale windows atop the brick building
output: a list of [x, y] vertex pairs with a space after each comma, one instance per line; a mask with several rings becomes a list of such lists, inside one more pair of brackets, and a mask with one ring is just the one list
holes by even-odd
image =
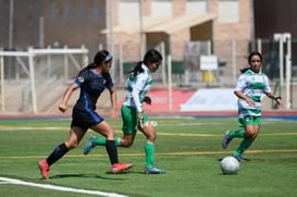
[[187, 0], [186, 14], [202, 15], [208, 12], [208, 0]]

